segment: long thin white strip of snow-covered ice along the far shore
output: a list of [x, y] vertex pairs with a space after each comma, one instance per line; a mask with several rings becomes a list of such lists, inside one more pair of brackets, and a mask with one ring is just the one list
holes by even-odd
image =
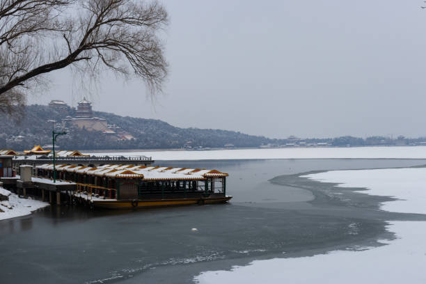
[[426, 159], [426, 146], [358, 148], [271, 148], [203, 151], [88, 152], [90, 155], [147, 156], [155, 160], [205, 159]]

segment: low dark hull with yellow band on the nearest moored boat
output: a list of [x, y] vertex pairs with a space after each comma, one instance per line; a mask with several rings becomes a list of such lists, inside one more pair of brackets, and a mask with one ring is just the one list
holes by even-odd
[[183, 205], [204, 205], [226, 203], [232, 196], [209, 197], [209, 198], [175, 198], [175, 199], [152, 199], [152, 200], [94, 200], [93, 205], [108, 209], [130, 209], [150, 208]]

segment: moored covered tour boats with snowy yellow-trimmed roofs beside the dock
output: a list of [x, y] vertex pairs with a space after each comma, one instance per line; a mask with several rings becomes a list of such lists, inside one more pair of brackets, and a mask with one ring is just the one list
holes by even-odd
[[[40, 178], [53, 177], [53, 164], [36, 166]], [[108, 164], [56, 165], [56, 177], [76, 183], [74, 202], [110, 209], [226, 203], [228, 173], [200, 168]]]

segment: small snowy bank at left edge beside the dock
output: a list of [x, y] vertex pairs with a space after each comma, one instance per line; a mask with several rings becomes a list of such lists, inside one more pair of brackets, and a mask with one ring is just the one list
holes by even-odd
[[0, 194], [9, 196], [9, 200], [0, 201], [0, 220], [25, 216], [31, 214], [31, 212], [38, 210], [42, 207], [46, 207], [49, 203], [45, 203], [39, 200], [19, 198], [16, 194], [0, 187]]

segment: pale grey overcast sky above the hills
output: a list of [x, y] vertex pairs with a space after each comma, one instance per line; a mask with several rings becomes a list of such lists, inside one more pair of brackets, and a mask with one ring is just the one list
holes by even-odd
[[29, 103], [86, 95], [96, 111], [271, 138], [426, 136], [423, 1], [163, 3], [170, 74], [155, 104], [143, 81], [106, 75], [88, 94], [68, 71]]

